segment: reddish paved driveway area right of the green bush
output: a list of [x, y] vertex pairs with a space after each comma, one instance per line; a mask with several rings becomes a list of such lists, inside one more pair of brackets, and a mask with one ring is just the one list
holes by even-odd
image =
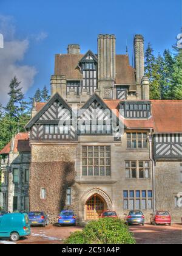
[[131, 226], [138, 244], [182, 244], [182, 226]]

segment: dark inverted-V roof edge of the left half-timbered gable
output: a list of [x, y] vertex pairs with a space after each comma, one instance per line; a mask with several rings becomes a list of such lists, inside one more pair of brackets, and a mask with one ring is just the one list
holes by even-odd
[[30, 119], [29, 123], [26, 124], [25, 129], [30, 129], [33, 126], [33, 124], [35, 124], [36, 121], [38, 121], [38, 119], [49, 109], [49, 107], [56, 100], [60, 101], [62, 105], [64, 105], [64, 107], [72, 113], [72, 108], [70, 108], [66, 101], [64, 101], [64, 99], [59, 95], [59, 93], [56, 93], [52, 96], [52, 98], [50, 98], [50, 100], [47, 103], [45, 103], [45, 105], [39, 110], [39, 112], [36, 113], [36, 115], [32, 119]]

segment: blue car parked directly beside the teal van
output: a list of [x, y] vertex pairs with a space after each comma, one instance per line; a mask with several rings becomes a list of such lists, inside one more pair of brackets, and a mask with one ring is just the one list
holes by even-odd
[[29, 212], [29, 219], [31, 226], [49, 225], [49, 215], [45, 215], [44, 212]]

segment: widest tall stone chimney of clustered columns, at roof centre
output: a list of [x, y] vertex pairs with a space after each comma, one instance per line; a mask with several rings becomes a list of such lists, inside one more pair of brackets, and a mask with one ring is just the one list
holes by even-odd
[[98, 35], [98, 89], [101, 98], [112, 99], [116, 76], [116, 37]]

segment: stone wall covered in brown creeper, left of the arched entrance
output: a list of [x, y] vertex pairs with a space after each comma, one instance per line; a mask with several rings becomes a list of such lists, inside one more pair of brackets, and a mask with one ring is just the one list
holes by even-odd
[[[49, 214], [57, 222], [66, 190], [75, 182], [75, 146], [32, 146], [30, 210]], [[41, 199], [41, 188], [46, 197]]]

